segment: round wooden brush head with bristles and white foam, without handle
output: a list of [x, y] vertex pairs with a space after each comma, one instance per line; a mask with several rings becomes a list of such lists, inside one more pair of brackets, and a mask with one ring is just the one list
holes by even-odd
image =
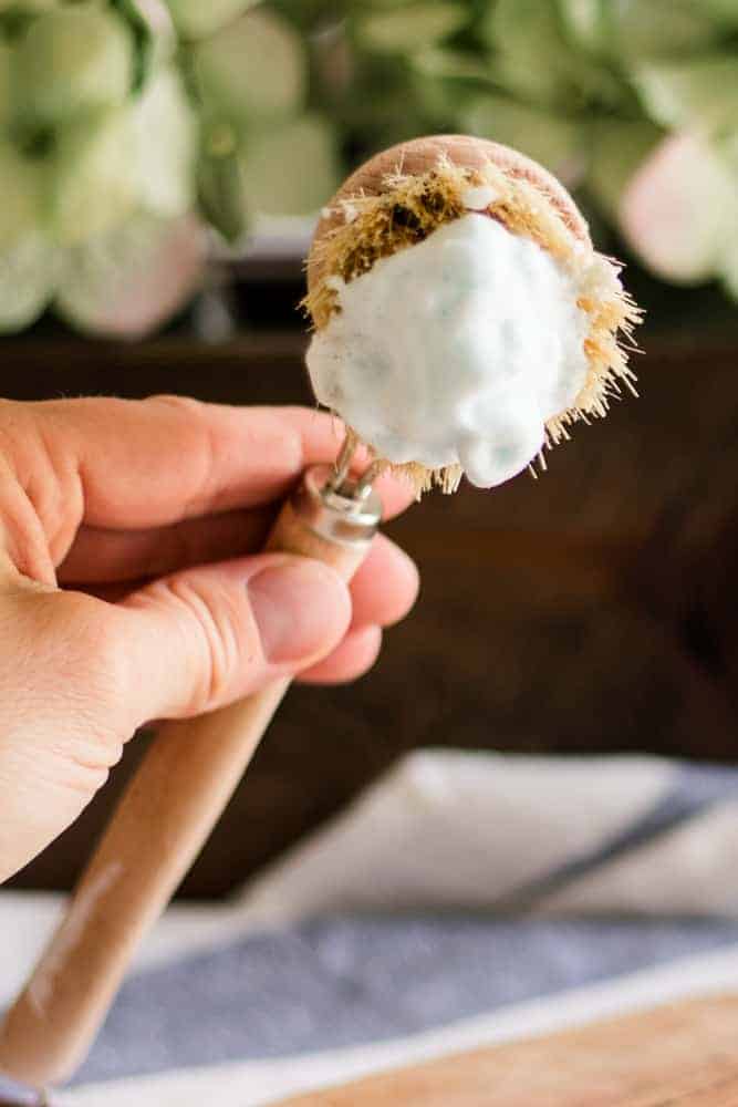
[[455, 135], [393, 147], [346, 180], [315, 232], [304, 306], [318, 399], [418, 493], [451, 492], [462, 472], [499, 484], [633, 389], [624, 345], [638, 312], [619, 271], [562, 186], [516, 151]]

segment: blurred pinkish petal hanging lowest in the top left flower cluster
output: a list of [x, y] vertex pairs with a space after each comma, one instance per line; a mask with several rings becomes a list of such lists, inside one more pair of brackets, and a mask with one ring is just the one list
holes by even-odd
[[142, 338], [190, 299], [205, 259], [205, 232], [191, 216], [135, 213], [66, 251], [54, 309], [93, 334]]

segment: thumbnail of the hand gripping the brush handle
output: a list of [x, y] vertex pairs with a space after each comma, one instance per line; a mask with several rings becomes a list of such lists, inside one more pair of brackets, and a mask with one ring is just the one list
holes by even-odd
[[341, 578], [309, 559], [262, 569], [248, 582], [264, 656], [273, 664], [311, 661], [331, 650], [351, 618]]

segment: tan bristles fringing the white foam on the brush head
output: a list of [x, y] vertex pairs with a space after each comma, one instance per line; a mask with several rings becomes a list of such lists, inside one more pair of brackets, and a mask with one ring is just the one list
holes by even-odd
[[[548, 421], [550, 447], [569, 438], [572, 423], [606, 415], [621, 384], [635, 391], [627, 350], [635, 349], [632, 330], [641, 320], [641, 311], [620, 283], [617, 262], [576, 239], [549, 197], [530, 182], [507, 176], [493, 162], [469, 169], [441, 156], [436, 167], [425, 174], [388, 174], [380, 195], [358, 194], [342, 199], [339, 214], [343, 223], [313, 246], [311, 267], [320, 277], [311, 283], [303, 307], [318, 330], [328, 325], [331, 315], [340, 310], [331, 277], [349, 283], [368, 272], [380, 258], [414, 246], [441, 224], [466, 215], [464, 194], [481, 185], [490, 186], [495, 197], [485, 214], [512, 234], [538, 242], [570, 271], [581, 290], [578, 304], [590, 320], [584, 341], [588, 377], [573, 405]], [[413, 462], [391, 468], [408, 478], [418, 495], [434, 485], [455, 492], [462, 476], [459, 465], [429, 469]]]

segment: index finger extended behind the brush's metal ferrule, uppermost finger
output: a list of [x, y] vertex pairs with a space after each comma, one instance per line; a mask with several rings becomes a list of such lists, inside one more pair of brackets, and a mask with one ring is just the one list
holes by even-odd
[[[180, 396], [30, 405], [45, 442], [76, 469], [94, 527], [160, 527], [282, 497], [302, 470], [332, 463], [343, 424], [306, 407], [232, 407]], [[413, 499], [384, 477], [389, 518]]]

